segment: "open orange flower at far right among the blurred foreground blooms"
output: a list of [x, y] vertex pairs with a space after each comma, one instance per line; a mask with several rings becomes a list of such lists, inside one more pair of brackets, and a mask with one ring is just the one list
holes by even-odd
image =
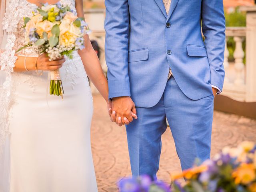
[[241, 164], [241, 166], [233, 172], [232, 176], [235, 178], [236, 184], [249, 184], [256, 178], [254, 165], [245, 163]]

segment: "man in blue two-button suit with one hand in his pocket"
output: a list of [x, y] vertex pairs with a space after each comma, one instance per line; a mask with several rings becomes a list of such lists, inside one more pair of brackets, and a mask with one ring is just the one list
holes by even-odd
[[105, 4], [109, 98], [115, 121], [126, 124], [132, 174], [156, 176], [166, 118], [182, 169], [210, 158], [213, 100], [224, 81], [222, 0]]

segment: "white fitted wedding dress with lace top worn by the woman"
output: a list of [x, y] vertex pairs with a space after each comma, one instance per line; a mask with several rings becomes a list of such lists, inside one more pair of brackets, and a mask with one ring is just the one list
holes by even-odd
[[[8, 46], [17, 50], [25, 42], [23, 16], [31, 16], [36, 5], [26, 0], [9, 2], [12, 11], [8, 12], [7, 5], [4, 24], [13, 28], [7, 32]], [[74, 0], [60, 2], [75, 10]], [[18, 54], [37, 56], [32, 48]], [[5, 57], [6, 64], [15, 62], [13, 58]], [[10, 93], [3, 94], [0, 100], [8, 102], [7, 110], [6, 103], [0, 104], [1, 114], [8, 116], [0, 122], [0, 134], [4, 136], [10, 131], [5, 135], [5, 167], [0, 169], [5, 186], [0, 187], [0, 192], [97, 192], [90, 144], [92, 94], [78, 53], [74, 53], [72, 60], [66, 58], [60, 69], [63, 100], [49, 94], [48, 72], [42, 76], [36, 72], [9, 74], [11, 80], [7, 79], [6, 87], [10, 87]], [[7, 156], [10, 164], [6, 162]]]

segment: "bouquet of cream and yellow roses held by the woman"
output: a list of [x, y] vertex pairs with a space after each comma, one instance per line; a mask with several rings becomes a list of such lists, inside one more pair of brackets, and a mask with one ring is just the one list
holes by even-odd
[[[83, 18], [78, 18], [69, 6], [42, 4], [32, 12], [32, 17], [24, 18], [26, 45], [33, 46], [38, 54], [46, 53], [49, 60], [62, 56], [72, 59], [72, 52], [84, 48], [84, 34], [90, 32]], [[17, 51], [17, 52], [18, 52]], [[58, 70], [50, 72], [50, 94], [62, 96], [63, 86]]]

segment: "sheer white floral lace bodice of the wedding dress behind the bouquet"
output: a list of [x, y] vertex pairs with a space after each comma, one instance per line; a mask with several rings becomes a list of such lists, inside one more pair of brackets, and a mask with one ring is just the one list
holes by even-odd
[[[64, 5], [70, 6], [70, 8], [74, 11], [76, 11], [75, 8], [75, 0], [60, 0], [60, 2]], [[14, 35], [16, 36], [16, 40], [14, 42], [14, 50], [17, 51], [20, 47], [26, 45], [26, 41], [24, 38], [24, 20], [23, 17], [31, 17], [32, 11], [37, 8], [36, 4], [30, 3], [27, 0], [20, 0], [17, 1], [15, 4], [16, 12], [14, 14], [22, 14], [21, 20], [18, 21], [17, 24], [17, 30], [14, 32]], [[5, 21], [9, 22], [9, 21]], [[38, 56], [38, 54], [34, 51], [33, 47], [25, 48], [17, 53], [21, 56]]]

